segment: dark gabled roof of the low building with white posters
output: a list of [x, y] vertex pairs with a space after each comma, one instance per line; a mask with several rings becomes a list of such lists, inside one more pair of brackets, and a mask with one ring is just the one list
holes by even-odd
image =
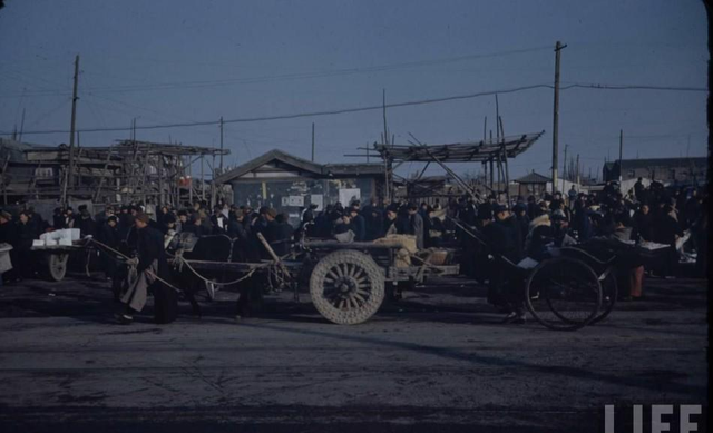
[[241, 166], [233, 168], [229, 171], [215, 178], [218, 184], [225, 184], [235, 178], [238, 178], [247, 173], [251, 173], [267, 164], [275, 164], [276, 166], [290, 166], [315, 176], [346, 176], [346, 175], [384, 175], [382, 164], [318, 164], [294, 155], [290, 155], [279, 149], [272, 149], [266, 154], [258, 156]]

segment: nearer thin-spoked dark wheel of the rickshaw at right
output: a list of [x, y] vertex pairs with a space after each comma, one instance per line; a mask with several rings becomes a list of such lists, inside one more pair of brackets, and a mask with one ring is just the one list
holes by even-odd
[[544, 326], [575, 331], [594, 321], [602, 307], [602, 285], [584, 262], [545, 260], [527, 278], [527, 309]]

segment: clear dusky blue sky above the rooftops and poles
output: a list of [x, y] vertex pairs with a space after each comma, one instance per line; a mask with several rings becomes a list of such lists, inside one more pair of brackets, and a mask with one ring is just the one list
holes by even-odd
[[[0, 11], [0, 131], [26, 109], [26, 130], [68, 129], [72, 61], [80, 62], [78, 128], [277, 116], [561, 81], [706, 87], [707, 23], [699, 0], [228, 1], [8, 0]], [[585, 173], [625, 158], [706, 155], [706, 92], [570, 89], [560, 98], [560, 149]], [[506, 135], [546, 130], [511, 161], [511, 177], [547, 174], [553, 91], [500, 95]], [[392, 108], [398, 144], [480, 139], [495, 97]], [[344, 158], [379, 140], [380, 110], [232, 124], [231, 164], [272, 148]], [[129, 132], [86, 132], [105, 146]], [[139, 130], [146, 140], [217, 146], [214, 126]], [[56, 145], [67, 134], [27, 135]], [[690, 140], [690, 141], [688, 141]], [[690, 145], [688, 145], [690, 142]], [[563, 155], [560, 154], [560, 165]], [[459, 170], [478, 167], [458, 167]], [[417, 165], [403, 167], [414, 171]], [[434, 170], [436, 171], [436, 170]]]

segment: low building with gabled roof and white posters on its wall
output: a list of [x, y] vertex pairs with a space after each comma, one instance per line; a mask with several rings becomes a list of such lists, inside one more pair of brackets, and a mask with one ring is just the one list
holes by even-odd
[[216, 184], [229, 184], [233, 203], [253, 208], [268, 206], [286, 213], [296, 224], [300, 209], [322, 209], [338, 201], [348, 206], [384, 193], [383, 164], [318, 164], [282, 150], [271, 150], [223, 174]]

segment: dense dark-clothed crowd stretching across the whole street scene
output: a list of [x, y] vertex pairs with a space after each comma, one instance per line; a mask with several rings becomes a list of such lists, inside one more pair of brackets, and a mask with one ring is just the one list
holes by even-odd
[[[508, 301], [507, 267], [498, 260], [512, 264], [525, 257], [535, 260], [547, 258], [549, 248], [586, 243], [593, 238], [611, 238], [623, 243], [653, 242], [667, 246], [668, 259], [662, 266], [647, 269], [660, 276], [676, 275], [680, 262], [677, 242], [690, 233], [690, 244], [697, 254], [696, 270], [705, 273], [707, 259], [707, 197], [696, 188], [666, 189], [660, 183], [645, 186], [638, 179], [631, 191], [621, 191], [608, 183], [598, 193], [578, 193], [574, 187], [567, 194], [554, 193], [543, 197], [517, 197], [508, 206], [496, 195], [479, 194], [450, 199], [443, 206], [436, 200], [427, 203], [378, 203], [371, 199], [362, 206], [359, 200], [343, 205], [336, 203], [318, 209], [310, 205], [302, 209], [299, 224], [291, 224], [286, 214], [270, 207], [253, 209], [250, 206], [228, 206], [218, 203], [211, 210], [207, 203], [185, 204], [176, 209], [169, 206], [156, 208], [152, 204], [133, 203], [125, 206], [106, 206], [91, 215], [87, 206], [57, 208], [51, 220], [45, 220], [31, 206], [25, 206], [17, 216], [0, 211], [0, 243], [13, 246], [11, 252], [16, 269], [3, 275], [6, 282], [32, 277], [38, 269], [30, 258], [32, 240], [42, 233], [77, 228], [80, 237], [91, 236], [107, 247], [138, 257], [138, 270], [154, 269], [146, 275], [164, 275], [168, 278], [165, 249], [182, 233], [196, 237], [225, 235], [238, 239], [233, 250], [234, 262], [260, 262], [271, 255], [258, 239], [262, 234], [277, 256], [285, 256], [293, 242], [300, 238], [338, 238], [342, 242], [371, 242], [391, 234], [412, 235], [418, 249], [441, 245], [461, 248], [461, 269], [490, 285], [489, 301], [509, 311], [509, 316], [521, 318], [521, 312]], [[456, 224], [457, 222], [458, 224]], [[478, 240], [463, 233], [472, 229], [485, 238]], [[101, 250], [101, 249], [100, 249]], [[154, 281], [144, 282], [139, 291], [123, 286], [126, 275], [120, 272], [116, 257], [104, 250], [101, 260], [106, 278], [113, 281], [115, 297], [127, 311], [125, 321], [140, 311], [146, 292]], [[490, 266], [490, 262], [495, 260]], [[628, 289], [619, 291], [625, 297], [641, 297], [643, 268], [628, 278]], [[641, 275], [639, 275], [641, 274]], [[150, 278], [149, 278], [150, 279]], [[260, 277], [253, 278], [264, 284]], [[251, 283], [252, 284], [252, 283]], [[248, 291], [260, 292], [260, 287]], [[175, 294], [174, 294], [175, 295]], [[168, 304], [175, 304], [172, 295], [165, 295]], [[238, 314], [246, 314], [250, 296], [241, 296]], [[189, 297], [194, 312], [197, 303]], [[508, 307], [509, 305], [509, 307]], [[164, 321], [175, 313], [166, 307]], [[175, 308], [174, 308], [175, 309]], [[199, 314], [199, 313], [198, 313]]]

